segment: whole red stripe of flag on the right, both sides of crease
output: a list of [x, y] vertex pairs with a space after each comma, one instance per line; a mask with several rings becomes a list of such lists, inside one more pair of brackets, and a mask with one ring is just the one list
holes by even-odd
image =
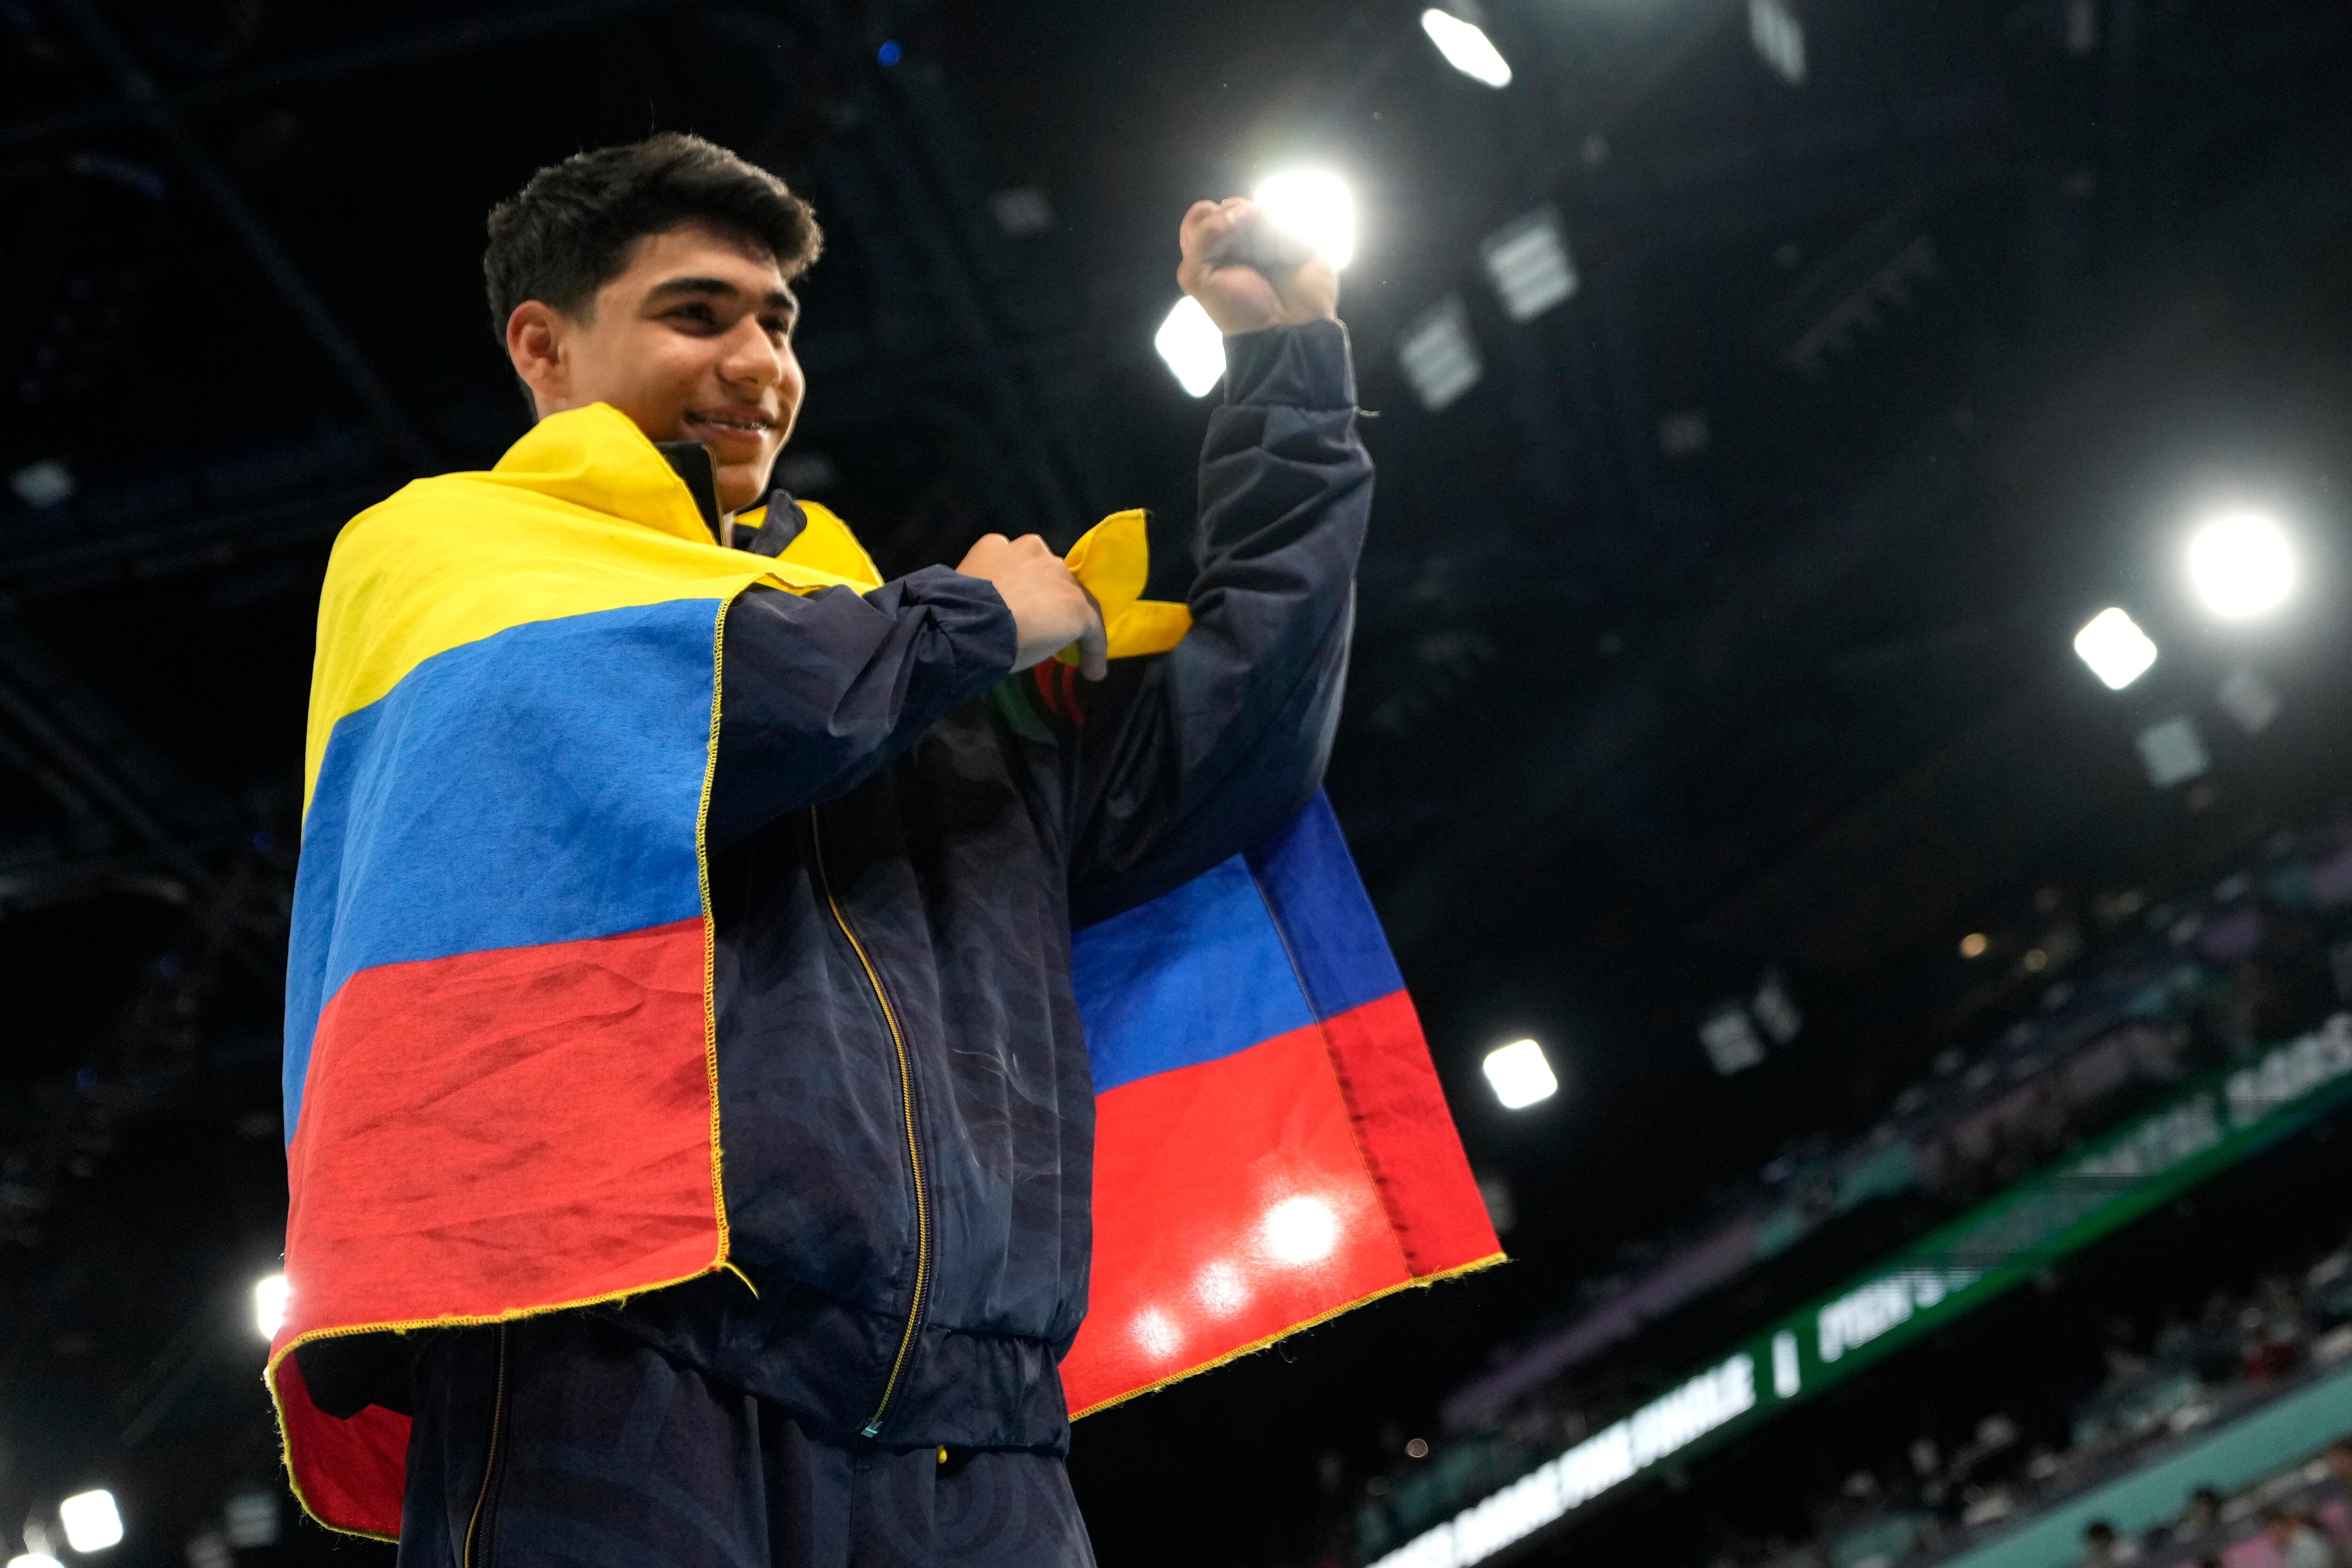
[[1063, 1392], [1084, 1415], [1498, 1260], [1414, 1004], [1376, 997], [1096, 1098], [1094, 1293]]

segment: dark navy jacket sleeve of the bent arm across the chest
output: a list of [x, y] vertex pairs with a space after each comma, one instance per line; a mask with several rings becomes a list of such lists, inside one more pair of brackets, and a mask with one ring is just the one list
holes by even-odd
[[750, 588], [727, 609], [708, 842], [842, 795], [1014, 668], [990, 583], [927, 567], [873, 592]]

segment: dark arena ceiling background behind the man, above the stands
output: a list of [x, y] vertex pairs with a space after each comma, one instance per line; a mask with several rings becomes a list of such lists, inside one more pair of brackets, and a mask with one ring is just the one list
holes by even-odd
[[[1503, 92], [1343, 0], [0, 0], [0, 470], [73, 480], [0, 491], [0, 1547], [103, 1481], [115, 1559], [176, 1561], [273, 1476], [315, 588], [343, 517], [522, 430], [482, 214], [583, 146], [694, 129], [811, 195], [783, 477], [887, 571], [1185, 517], [1176, 219], [1355, 186], [1381, 477], [1329, 788], [1515, 1262], [1084, 1422], [1105, 1563], [1319, 1561], [1496, 1345], [2027, 1006], [2039, 931], [2338, 809], [2345, 5], [1804, 0], [1802, 85], [1743, 5], [1486, 12]], [[1515, 324], [1477, 240], [1538, 205], [1581, 284]], [[1430, 414], [1395, 346], [1446, 294], [1484, 376]], [[2192, 607], [2216, 503], [2288, 522], [2291, 614]], [[2164, 649], [2124, 693], [2067, 651], [2105, 604]], [[2213, 771], [2154, 790], [2176, 712]], [[1696, 1025], [1766, 969], [1804, 1032], [1717, 1077]], [[1477, 1063], [1519, 1034], [1564, 1088], [1508, 1114]]]

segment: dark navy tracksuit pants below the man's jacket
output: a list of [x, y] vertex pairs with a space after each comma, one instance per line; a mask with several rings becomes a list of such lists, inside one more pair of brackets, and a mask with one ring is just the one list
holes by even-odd
[[400, 1568], [1091, 1568], [1054, 1453], [842, 1448], [564, 1312], [416, 1347]]

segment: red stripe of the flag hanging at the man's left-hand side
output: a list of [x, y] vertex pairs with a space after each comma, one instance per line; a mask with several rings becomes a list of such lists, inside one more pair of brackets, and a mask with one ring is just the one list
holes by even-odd
[[287, 1175], [287, 1338], [710, 1269], [703, 922], [360, 971], [320, 1013]]

